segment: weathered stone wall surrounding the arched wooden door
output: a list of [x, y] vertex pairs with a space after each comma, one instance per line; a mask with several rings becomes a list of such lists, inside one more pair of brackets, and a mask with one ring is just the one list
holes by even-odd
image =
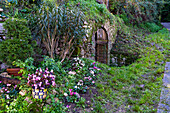
[[[88, 26], [89, 27], [89, 26]], [[110, 24], [110, 21], [106, 21], [105, 24], [103, 25], [95, 25], [94, 23], [91, 24], [90, 26], [90, 31], [88, 31], [87, 36], [89, 36], [88, 38], [90, 38], [91, 40], [89, 42], [87, 42], [87, 46], [85, 48], [81, 49], [81, 56], [85, 57], [85, 58], [89, 58], [92, 60], [96, 60], [96, 33], [98, 33], [99, 35], [102, 35], [100, 29], [103, 29], [103, 31], [105, 31], [106, 33], [106, 39], [107, 39], [107, 51], [106, 51], [106, 59], [107, 59], [107, 64], [110, 64], [110, 51], [112, 48], [112, 44], [115, 42], [116, 39], [116, 35], [117, 35], [117, 26], [116, 26], [116, 22], [114, 22], [113, 24]], [[100, 53], [99, 53], [100, 54]], [[99, 61], [100, 62], [100, 61]]]

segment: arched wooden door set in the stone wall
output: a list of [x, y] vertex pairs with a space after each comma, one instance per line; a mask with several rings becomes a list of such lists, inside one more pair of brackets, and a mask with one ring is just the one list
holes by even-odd
[[108, 35], [104, 28], [95, 34], [95, 60], [108, 64]]

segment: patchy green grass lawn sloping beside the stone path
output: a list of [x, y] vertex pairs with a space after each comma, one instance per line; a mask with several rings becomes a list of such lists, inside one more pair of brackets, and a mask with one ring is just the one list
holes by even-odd
[[[156, 112], [162, 87], [162, 73], [165, 62], [169, 61], [169, 40], [169, 31], [163, 29], [145, 37], [145, 41], [152, 45], [146, 44], [148, 47], [142, 49], [141, 58], [135, 63], [126, 67], [99, 64], [102, 71], [96, 86], [102, 93], [101, 98], [109, 100], [106, 105], [98, 101], [99, 105], [103, 108], [107, 106], [108, 112], [116, 112], [120, 107], [124, 112]], [[109, 106], [110, 104], [114, 106]]]

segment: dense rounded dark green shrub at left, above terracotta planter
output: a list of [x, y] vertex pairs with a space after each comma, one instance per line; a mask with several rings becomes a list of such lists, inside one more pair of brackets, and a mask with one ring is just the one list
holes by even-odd
[[26, 20], [9, 18], [4, 28], [7, 30], [6, 39], [0, 42], [0, 59], [3, 62], [12, 65], [13, 61], [23, 61], [34, 54], [36, 43], [32, 41]]

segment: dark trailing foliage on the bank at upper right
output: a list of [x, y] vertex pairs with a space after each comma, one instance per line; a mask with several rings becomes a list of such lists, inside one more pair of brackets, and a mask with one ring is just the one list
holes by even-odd
[[119, 15], [126, 24], [139, 25], [142, 22], [158, 22], [162, 0], [111, 0], [111, 12]]

